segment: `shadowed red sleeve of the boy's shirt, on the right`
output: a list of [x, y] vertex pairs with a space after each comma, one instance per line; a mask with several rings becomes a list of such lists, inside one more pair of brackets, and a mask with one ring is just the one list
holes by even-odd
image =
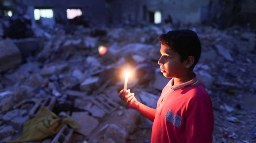
[[186, 143], [212, 143], [214, 114], [210, 96], [199, 93], [188, 102]]

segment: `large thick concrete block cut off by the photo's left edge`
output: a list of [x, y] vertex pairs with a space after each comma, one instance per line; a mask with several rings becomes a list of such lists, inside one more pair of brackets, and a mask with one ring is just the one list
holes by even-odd
[[0, 40], [0, 72], [15, 68], [21, 63], [19, 48], [11, 39]]

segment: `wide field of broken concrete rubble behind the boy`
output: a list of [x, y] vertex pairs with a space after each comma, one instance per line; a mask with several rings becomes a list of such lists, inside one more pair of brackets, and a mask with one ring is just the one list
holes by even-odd
[[[195, 31], [202, 43], [195, 72], [212, 99], [214, 143], [255, 142], [256, 31], [244, 27], [179, 27], [185, 28]], [[157, 37], [173, 28], [150, 25], [102, 29], [103, 34], [97, 35], [94, 30], [91, 35], [91, 29], [83, 26], [72, 33], [64, 28], [35, 28], [33, 38], [1, 39], [1, 143], [18, 139], [27, 121], [35, 119], [41, 121], [36, 126], [38, 134], [46, 129], [54, 132], [23, 142], [150, 142], [152, 122], [124, 107], [118, 92], [124, 88], [123, 72], [129, 69], [127, 88], [147, 106], [156, 107], [169, 81], [157, 63]], [[80, 128], [70, 126], [71, 120]], [[53, 129], [52, 122], [59, 126]], [[33, 134], [33, 130], [26, 132]]]

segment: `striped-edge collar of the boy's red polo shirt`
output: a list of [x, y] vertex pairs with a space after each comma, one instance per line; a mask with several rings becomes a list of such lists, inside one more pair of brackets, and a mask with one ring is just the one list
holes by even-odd
[[172, 86], [173, 85], [173, 78], [172, 78], [172, 79], [170, 79], [170, 82], [167, 84], [167, 86], [169, 86], [170, 88], [173, 89], [173, 91], [175, 91], [175, 90], [187, 87], [187, 86], [196, 85], [199, 83], [199, 80], [197, 78], [196, 73], [194, 72], [193, 74], [195, 75], [195, 78], [193, 78], [192, 80], [189, 80], [188, 82]]

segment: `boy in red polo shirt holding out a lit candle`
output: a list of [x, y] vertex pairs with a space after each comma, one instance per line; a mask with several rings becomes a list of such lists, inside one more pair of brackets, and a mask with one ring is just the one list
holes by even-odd
[[214, 115], [211, 98], [193, 68], [201, 43], [191, 30], [169, 31], [158, 37], [161, 72], [170, 81], [162, 90], [157, 109], [135, 98], [130, 90], [118, 94], [122, 103], [153, 122], [151, 143], [212, 143]]

